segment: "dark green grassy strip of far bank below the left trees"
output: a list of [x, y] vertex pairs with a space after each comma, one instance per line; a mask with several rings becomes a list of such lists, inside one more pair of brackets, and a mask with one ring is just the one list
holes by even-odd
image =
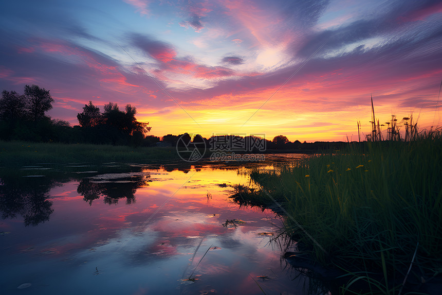
[[0, 141], [0, 166], [179, 159], [175, 148]]

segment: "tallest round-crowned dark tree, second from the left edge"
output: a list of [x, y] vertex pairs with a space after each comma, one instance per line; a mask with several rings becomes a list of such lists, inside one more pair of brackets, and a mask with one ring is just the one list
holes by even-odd
[[25, 85], [25, 97], [27, 99], [27, 113], [31, 121], [36, 122], [47, 118], [45, 112], [52, 109], [52, 102], [54, 102], [49, 90], [37, 85]]

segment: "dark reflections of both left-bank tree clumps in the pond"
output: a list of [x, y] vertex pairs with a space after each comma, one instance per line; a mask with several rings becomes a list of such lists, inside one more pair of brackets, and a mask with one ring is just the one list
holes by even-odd
[[142, 172], [143, 167], [97, 168], [100, 174], [91, 178], [72, 173], [70, 170], [77, 169], [72, 167], [64, 167], [66, 173], [56, 169], [44, 170], [44, 177], [24, 177], [29, 175], [29, 168], [0, 168], [0, 217], [22, 217], [26, 226], [48, 221], [54, 211], [49, 200], [50, 190], [73, 180], [80, 182], [77, 192], [89, 204], [100, 196], [104, 197], [106, 204], [116, 204], [121, 198], [126, 199], [126, 204], [132, 204], [136, 190], [149, 185], [150, 175]]

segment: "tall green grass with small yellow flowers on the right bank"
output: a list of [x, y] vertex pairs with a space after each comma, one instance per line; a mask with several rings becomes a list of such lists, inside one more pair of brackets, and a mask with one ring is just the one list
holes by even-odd
[[441, 176], [433, 131], [252, 170], [254, 188], [236, 186], [233, 197], [281, 204], [301, 250], [343, 271], [341, 293], [398, 294], [442, 272]]

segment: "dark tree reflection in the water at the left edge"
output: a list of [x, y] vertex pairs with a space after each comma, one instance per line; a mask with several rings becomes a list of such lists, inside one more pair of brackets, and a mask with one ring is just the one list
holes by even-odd
[[35, 181], [6, 182], [0, 186], [2, 218], [24, 218], [25, 226], [38, 225], [49, 220], [53, 212], [49, 190], [53, 185], [35, 184]]

